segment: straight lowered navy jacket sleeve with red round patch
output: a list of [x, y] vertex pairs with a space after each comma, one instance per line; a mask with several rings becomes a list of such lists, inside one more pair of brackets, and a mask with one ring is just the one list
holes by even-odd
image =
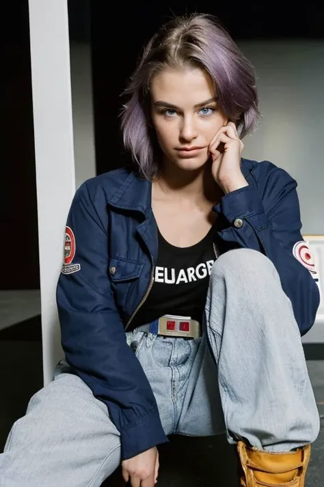
[[125, 460], [168, 440], [116, 309], [107, 274], [107, 203], [100, 186], [95, 192], [90, 197], [85, 182], [72, 201], [57, 308], [66, 360], [94, 397], [107, 405]]

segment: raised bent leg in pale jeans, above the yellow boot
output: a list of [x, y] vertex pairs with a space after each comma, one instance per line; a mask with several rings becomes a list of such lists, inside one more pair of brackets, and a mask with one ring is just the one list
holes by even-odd
[[291, 301], [272, 262], [251, 249], [215, 262], [206, 300], [228, 440], [280, 452], [319, 434], [319, 413]]

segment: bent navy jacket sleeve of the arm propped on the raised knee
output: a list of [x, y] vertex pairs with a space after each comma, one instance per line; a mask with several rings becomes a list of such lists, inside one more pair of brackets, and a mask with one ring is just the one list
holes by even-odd
[[[314, 324], [320, 295], [312, 274], [294, 256], [295, 244], [303, 241], [297, 183], [274, 164], [259, 166], [263, 172], [259, 187], [249, 184], [230, 192], [215, 206], [227, 222], [218, 234], [232, 247], [255, 249], [273, 262], [304, 335]], [[234, 225], [237, 218], [243, 221], [241, 227]]]

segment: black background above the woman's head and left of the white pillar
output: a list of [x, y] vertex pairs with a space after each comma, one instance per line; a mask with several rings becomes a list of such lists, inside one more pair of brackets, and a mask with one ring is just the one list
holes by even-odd
[[[120, 92], [141, 47], [176, 14], [215, 14], [234, 40], [324, 38], [322, 2], [69, 0], [70, 38], [90, 42], [94, 86], [97, 173], [123, 164], [118, 114]], [[39, 288], [38, 229], [28, 1], [1, 5], [1, 188], [3, 245], [0, 290]], [[312, 75], [312, 73], [310, 73]], [[116, 143], [116, 140], [118, 141]]]

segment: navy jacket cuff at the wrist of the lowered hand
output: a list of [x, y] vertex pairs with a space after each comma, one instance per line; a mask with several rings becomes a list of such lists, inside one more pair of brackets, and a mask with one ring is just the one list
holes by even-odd
[[126, 425], [120, 431], [122, 460], [135, 457], [143, 451], [168, 441], [156, 406], [148, 416]]

